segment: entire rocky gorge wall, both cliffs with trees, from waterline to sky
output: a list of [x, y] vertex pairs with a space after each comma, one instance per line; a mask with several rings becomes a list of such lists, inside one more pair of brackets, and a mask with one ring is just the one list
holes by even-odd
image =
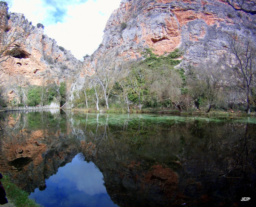
[[84, 63], [1, 8], [2, 36], [25, 26], [1, 56], [2, 106], [255, 111], [255, 1], [122, 0]]

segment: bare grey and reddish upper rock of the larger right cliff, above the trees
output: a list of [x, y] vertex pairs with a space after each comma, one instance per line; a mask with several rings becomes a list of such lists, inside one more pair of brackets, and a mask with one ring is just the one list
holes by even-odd
[[256, 42], [256, 16], [234, 2], [122, 0], [108, 19], [100, 47], [84, 60], [84, 67], [93, 70], [105, 58], [140, 60], [143, 48], [159, 55], [180, 48], [183, 64], [229, 55], [227, 32]]

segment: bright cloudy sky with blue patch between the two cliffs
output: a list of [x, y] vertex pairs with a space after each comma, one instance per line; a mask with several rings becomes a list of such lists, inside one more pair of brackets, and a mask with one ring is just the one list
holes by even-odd
[[121, 0], [6, 0], [9, 11], [23, 13], [59, 46], [81, 59], [102, 41], [103, 30]]

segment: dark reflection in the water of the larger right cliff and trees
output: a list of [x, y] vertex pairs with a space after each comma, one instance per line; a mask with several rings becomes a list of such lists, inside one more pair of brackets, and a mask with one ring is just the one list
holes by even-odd
[[119, 206], [253, 203], [240, 200], [255, 195], [255, 124], [141, 115], [120, 124], [105, 116], [85, 124], [82, 149]]

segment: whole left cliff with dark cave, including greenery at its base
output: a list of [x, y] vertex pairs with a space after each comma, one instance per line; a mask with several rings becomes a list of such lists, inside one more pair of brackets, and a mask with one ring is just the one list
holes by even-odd
[[2, 1], [0, 25], [0, 106], [59, 106], [60, 84], [71, 84], [82, 63], [44, 34], [42, 24], [8, 12]]

